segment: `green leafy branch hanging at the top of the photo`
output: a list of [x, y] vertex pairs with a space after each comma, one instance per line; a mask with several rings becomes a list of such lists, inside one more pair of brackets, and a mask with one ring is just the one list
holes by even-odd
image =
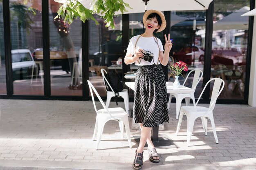
[[[81, 1], [81, 0], [80, 0]], [[58, 15], [54, 18], [64, 18], [64, 22], [71, 24], [74, 19], [80, 18], [81, 21], [94, 20], [98, 25], [99, 22], [94, 18], [93, 14], [98, 13], [103, 15], [106, 27], [111, 26], [115, 28], [113, 15], [115, 12], [120, 11], [122, 14], [127, 12], [128, 7], [132, 9], [129, 4], [123, 0], [93, 0], [91, 9], [85, 8], [79, 0], [66, 0], [64, 4], [58, 9]]]

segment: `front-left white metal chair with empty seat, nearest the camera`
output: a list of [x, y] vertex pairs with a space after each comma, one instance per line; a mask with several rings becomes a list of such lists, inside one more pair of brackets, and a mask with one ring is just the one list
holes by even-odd
[[[89, 84], [90, 92], [92, 95], [92, 102], [94, 105], [94, 109], [97, 113], [95, 128], [94, 128], [93, 137], [92, 137], [92, 140], [95, 140], [95, 137], [97, 135], [96, 150], [98, 150], [99, 143], [101, 141], [101, 135], [103, 132], [103, 128], [109, 120], [117, 120], [118, 121], [119, 128], [120, 128], [121, 134], [123, 136], [124, 136], [124, 126], [125, 126], [129, 146], [130, 146], [130, 148], [132, 148], [132, 142], [130, 139], [130, 126], [129, 126], [129, 120], [128, 120], [128, 113], [126, 113], [126, 111], [120, 107], [107, 108], [106, 105], [104, 104], [103, 100], [99, 96], [99, 93], [96, 91], [96, 89], [91, 84], [91, 82], [89, 80], [87, 80], [87, 82]], [[98, 97], [99, 101], [101, 102], [103, 109], [97, 110], [92, 90], [94, 91], [95, 95]]]

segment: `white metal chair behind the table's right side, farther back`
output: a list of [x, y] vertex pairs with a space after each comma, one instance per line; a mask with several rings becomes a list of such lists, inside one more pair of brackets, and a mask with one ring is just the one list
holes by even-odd
[[189, 75], [193, 72], [194, 72], [194, 77], [193, 77], [193, 82], [192, 82], [192, 87], [191, 87], [193, 89], [193, 92], [192, 93], [171, 93], [170, 96], [169, 96], [168, 110], [169, 110], [170, 105], [171, 105], [172, 97], [174, 96], [176, 98], [176, 119], [178, 119], [178, 117], [179, 117], [180, 106], [181, 106], [181, 102], [182, 102], [183, 99], [185, 99], [186, 106], [189, 106], [189, 99], [191, 98], [193, 100], [193, 104], [195, 106], [195, 95], [194, 95], [194, 93], [195, 93], [196, 86], [198, 85], [198, 83], [202, 79], [203, 72], [200, 69], [191, 70], [189, 72], [189, 74], [186, 76], [186, 79], [183, 83], [183, 86], [186, 83], [187, 79], [189, 78]]

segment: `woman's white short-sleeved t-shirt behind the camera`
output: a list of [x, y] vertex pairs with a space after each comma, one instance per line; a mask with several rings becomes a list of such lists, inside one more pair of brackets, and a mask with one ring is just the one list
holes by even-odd
[[[140, 35], [136, 35], [134, 37], [131, 38], [129, 45], [127, 47], [127, 52], [130, 52], [132, 55], [135, 54], [134, 52], [134, 46], [135, 43], [137, 41], [137, 39], [139, 38]], [[148, 66], [148, 65], [152, 65], [157, 64], [157, 60], [158, 60], [158, 56], [159, 56], [159, 49], [157, 46], [157, 43], [159, 45], [160, 51], [164, 51], [163, 45], [161, 40], [159, 40], [159, 38], [157, 38], [157, 42], [155, 42], [155, 38], [154, 37], [140, 37], [137, 45], [136, 45], [136, 52], [139, 51], [139, 49], [144, 49], [146, 51], [150, 51], [150, 53], [154, 54], [154, 58], [151, 62], [145, 61], [142, 58], [140, 59], [140, 63], [135, 62], [135, 65], [137, 66]], [[160, 64], [160, 62], [158, 62], [158, 64]]]

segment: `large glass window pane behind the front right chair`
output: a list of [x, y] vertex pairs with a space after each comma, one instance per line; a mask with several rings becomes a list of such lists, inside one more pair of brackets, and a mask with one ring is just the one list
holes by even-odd
[[249, 9], [249, 0], [215, 3], [211, 77], [225, 81], [219, 98], [244, 98], [249, 17], [241, 15]]

